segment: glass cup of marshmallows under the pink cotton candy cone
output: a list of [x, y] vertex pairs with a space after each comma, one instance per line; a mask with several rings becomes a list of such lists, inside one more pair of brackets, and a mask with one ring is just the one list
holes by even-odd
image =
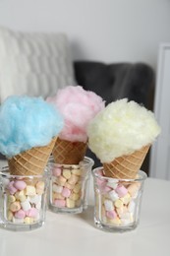
[[79, 164], [48, 162], [50, 172], [48, 207], [54, 213], [80, 214], [87, 208], [88, 187], [94, 161]]

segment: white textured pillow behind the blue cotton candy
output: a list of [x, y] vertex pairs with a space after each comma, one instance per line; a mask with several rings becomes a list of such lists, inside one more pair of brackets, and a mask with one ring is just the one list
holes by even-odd
[[52, 96], [75, 85], [64, 33], [13, 32], [0, 28], [0, 101], [11, 95]]

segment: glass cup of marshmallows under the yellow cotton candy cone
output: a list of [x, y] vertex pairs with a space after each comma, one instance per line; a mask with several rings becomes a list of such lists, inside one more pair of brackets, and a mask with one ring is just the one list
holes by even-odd
[[103, 167], [93, 169], [94, 224], [104, 231], [135, 229], [140, 222], [142, 191], [147, 175], [139, 171], [136, 179], [103, 176]]

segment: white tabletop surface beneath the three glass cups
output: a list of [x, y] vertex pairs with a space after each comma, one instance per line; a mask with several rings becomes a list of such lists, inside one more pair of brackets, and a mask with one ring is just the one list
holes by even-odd
[[0, 229], [0, 256], [169, 256], [170, 181], [147, 178], [142, 197], [141, 223], [137, 229], [109, 233], [93, 224], [93, 190], [89, 207], [79, 215], [47, 211], [46, 223], [32, 231]]

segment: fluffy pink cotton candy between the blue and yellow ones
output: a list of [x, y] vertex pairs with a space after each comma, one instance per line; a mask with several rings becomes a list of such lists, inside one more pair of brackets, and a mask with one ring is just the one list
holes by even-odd
[[60, 139], [72, 142], [86, 142], [89, 121], [105, 106], [100, 96], [80, 86], [59, 90], [56, 96], [48, 97], [47, 101], [53, 103], [64, 116], [65, 125], [59, 134]]

